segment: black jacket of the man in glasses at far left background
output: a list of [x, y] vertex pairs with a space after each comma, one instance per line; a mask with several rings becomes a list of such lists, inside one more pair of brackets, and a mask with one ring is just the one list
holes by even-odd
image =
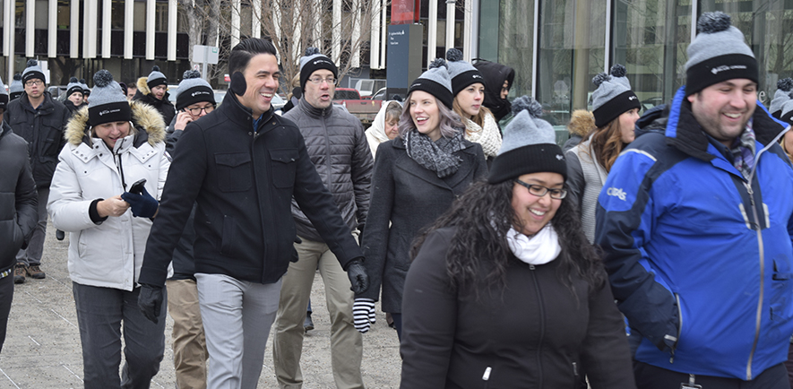
[[30, 167], [37, 187], [49, 187], [58, 153], [66, 144], [64, 131], [72, 115], [63, 103], [44, 92], [44, 101], [33, 109], [27, 93], [8, 103], [4, 121], [28, 143]]

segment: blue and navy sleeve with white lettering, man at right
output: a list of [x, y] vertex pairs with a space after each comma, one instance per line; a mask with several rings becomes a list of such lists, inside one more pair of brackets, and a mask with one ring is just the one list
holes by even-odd
[[616, 160], [598, 199], [595, 244], [604, 251], [611, 290], [631, 328], [668, 350], [677, 343], [677, 303], [640, 263], [657, 216], [645, 179], [655, 162], [647, 152], [630, 150]]

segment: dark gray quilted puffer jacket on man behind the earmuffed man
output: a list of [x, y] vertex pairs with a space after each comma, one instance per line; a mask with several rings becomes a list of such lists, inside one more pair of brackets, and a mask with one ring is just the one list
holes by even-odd
[[[325, 109], [312, 107], [306, 99], [300, 99], [297, 107], [283, 117], [295, 122], [300, 129], [306, 140], [306, 151], [324, 185], [333, 194], [341, 219], [350, 229], [356, 229], [366, 221], [375, 164], [360, 120], [333, 105]], [[292, 201], [292, 215], [297, 224], [297, 236], [323, 241], [295, 201]]]

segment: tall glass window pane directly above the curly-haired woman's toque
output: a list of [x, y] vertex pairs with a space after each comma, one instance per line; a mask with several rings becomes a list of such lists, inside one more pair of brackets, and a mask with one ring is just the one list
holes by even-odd
[[[541, 1], [537, 99], [549, 122], [564, 125], [573, 108], [588, 108], [595, 90], [592, 77], [605, 69], [606, 2]], [[526, 62], [531, 63], [530, 56]], [[518, 69], [515, 72], [517, 78]]]

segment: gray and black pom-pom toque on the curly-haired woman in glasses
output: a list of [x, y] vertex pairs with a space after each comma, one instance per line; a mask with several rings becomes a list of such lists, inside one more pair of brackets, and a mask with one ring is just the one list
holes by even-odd
[[551, 172], [567, 179], [567, 162], [556, 144], [556, 132], [542, 116], [542, 106], [529, 96], [513, 100], [513, 120], [504, 127], [504, 142], [487, 182], [498, 184], [524, 174]]

